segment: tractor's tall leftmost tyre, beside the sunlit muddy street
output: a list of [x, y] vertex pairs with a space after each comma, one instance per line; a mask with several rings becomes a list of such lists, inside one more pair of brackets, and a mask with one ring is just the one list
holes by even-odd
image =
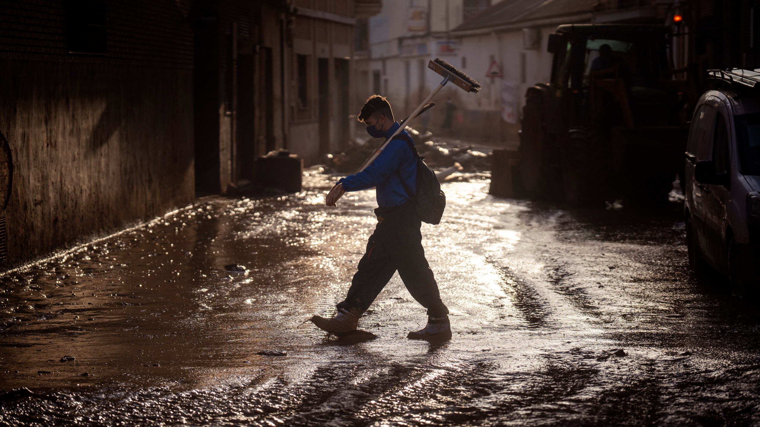
[[540, 94], [528, 96], [523, 107], [520, 132], [520, 174], [529, 198], [552, 198], [559, 187], [559, 174], [551, 166], [554, 138], [546, 132], [543, 100]]

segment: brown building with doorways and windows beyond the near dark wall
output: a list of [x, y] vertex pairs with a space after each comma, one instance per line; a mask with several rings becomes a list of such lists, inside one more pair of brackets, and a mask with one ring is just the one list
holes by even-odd
[[356, 17], [380, 0], [198, 0], [198, 189], [250, 182], [253, 160], [286, 149], [320, 163], [351, 136]]

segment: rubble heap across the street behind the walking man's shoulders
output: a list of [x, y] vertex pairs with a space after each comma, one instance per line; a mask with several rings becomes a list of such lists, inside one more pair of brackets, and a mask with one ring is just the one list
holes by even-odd
[[[448, 182], [490, 177], [490, 149], [478, 147], [476, 150], [476, 147], [464, 141], [433, 139], [430, 131], [420, 133], [408, 126], [407, 131], [412, 135], [420, 156], [425, 157], [425, 163], [436, 171], [440, 180]], [[325, 156], [325, 166], [336, 172], [356, 172], [382, 143], [382, 139], [373, 138], [366, 141], [349, 141], [344, 152]]]

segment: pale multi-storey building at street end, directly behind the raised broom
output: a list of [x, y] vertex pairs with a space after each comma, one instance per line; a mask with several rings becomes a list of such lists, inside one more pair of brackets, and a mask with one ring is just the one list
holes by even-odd
[[[385, 0], [382, 12], [368, 21], [369, 69], [366, 93], [387, 96], [397, 119], [404, 119], [442, 79], [427, 67], [431, 59], [440, 57], [462, 68], [461, 46], [451, 33], [465, 17], [471, 17], [490, 5], [489, 0]], [[467, 71], [465, 71], [467, 72]], [[478, 76], [472, 76], [478, 79]], [[451, 86], [451, 85], [450, 85]], [[369, 90], [367, 90], [369, 89]], [[445, 87], [435, 98], [438, 104], [413, 124], [442, 134], [458, 134], [467, 115], [462, 109], [447, 114], [446, 100], [460, 106], [454, 87]], [[476, 101], [478, 102], [478, 101]], [[447, 117], [452, 118], [446, 120]], [[454, 123], [448, 123], [454, 122]]]

